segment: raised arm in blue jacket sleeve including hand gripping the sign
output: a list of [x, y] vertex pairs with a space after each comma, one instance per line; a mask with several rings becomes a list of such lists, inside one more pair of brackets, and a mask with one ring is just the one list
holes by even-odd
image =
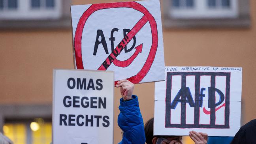
[[120, 114], [118, 125], [124, 131], [122, 141], [119, 144], [145, 144], [144, 124], [139, 110], [139, 101], [133, 95], [134, 84], [129, 80], [120, 80], [115, 85], [120, 88]]

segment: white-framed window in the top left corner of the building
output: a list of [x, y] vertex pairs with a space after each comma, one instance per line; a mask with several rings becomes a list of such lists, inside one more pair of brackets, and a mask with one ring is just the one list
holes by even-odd
[[62, 2], [63, 0], [0, 0], [3, 7], [0, 11], [0, 19], [60, 19]]

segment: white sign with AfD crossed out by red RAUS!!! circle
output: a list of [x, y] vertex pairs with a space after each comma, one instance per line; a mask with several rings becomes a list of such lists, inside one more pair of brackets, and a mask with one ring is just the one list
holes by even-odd
[[115, 80], [164, 80], [159, 0], [71, 6], [76, 69], [115, 71]]

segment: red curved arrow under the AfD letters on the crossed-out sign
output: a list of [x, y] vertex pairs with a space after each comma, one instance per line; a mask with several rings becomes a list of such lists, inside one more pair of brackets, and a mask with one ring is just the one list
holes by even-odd
[[124, 61], [115, 59], [115, 60], [113, 60], [113, 64], [118, 67], [128, 67], [130, 64], [132, 64], [132, 62], [138, 56], [138, 54], [142, 52], [142, 44], [138, 45], [134, 49], [136, 49], [136, 51], [134, 52], [134, 54], [132, 54], [132, 56], [130, 58], [128, 58], [127, 60], [124, 60]]

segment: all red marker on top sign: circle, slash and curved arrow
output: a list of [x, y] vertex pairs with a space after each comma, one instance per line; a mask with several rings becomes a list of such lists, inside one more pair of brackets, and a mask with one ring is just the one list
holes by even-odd
[[[152, 45], [149, 50], [149, 55], [147, 56], [146, 62], [143, 64], [143, 67], [137, 74], [135, 74], [132, 77], [126, 78], [127, 80], [130, 80], [133, 83], [139, 83], [149, 72], [151, 69], [151, 65], [154, 62], [154, 58], [156, 56], [156, 50], [158, 48], [158, 30], [157, 30], [157, 24], [154, 17], [149, 13], [149, 11], [142, 6], [141, 4], [137, 2], [118, 2], [118, 3], [107, 3], [107, 4], [92, 4], [80, 17], [79, 22], [77, 24], [77, 28], [75, 31], [75, 37], [74, 37], [74, 49], [75, 49], [75, 63], [77, 66], [77, 69], [84, 69], [83, 66], [83, 58], [82, 58], [82, 35], [85, 23], [87, 19], [94, 13], [95, 11], [101, 10], [101, 9], [112, 9], [112, 8], [119, 8], [119, 7], [127, 7], [132, 8], [134, 10], [140, 11], [143, 13], [143, 17], [135, 24], [135, 26], [132, 28], [128, 34], [122, 39], [122, 41], [117, 45], [117, 47], [113, 50], [111, 54], [102, 62], [98, 70], [107, 70], [107, 68], [112, 64], [115, 63], [118, 66], [125, 67], [126, 65], [130, 65], [130, 63], [133, 62], [133, 60], [136, 58], [136, 56], [139, 54], [139, 51], [141, 52], [142, 45], [138, 46], [136, 49], [136, 52], [133, 56], [131, 56], [128, 60], [125, 61], [119, 61], [116, 60], [117, 56], [119, 56], [120, 52], [124, 49], [124, 47], [132, 40], [132, 38], [143, 28], [143, 26], [149, 22], [149, 25], [151, 27], [151, 36], [152, 36]], [[141, 49], [139, 49], [141, 48]], [[115, 81], [117, 82], [117, 81]]]

